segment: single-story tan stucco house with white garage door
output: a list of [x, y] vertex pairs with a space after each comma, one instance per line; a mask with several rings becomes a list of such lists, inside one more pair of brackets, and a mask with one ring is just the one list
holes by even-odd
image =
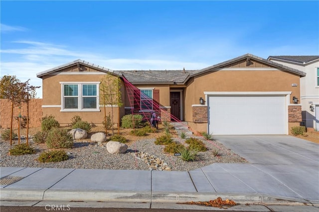
[[[37, 74], [43, 79], [43, 115], [52, 114], [61, 124], [74, 115], [101, 124], [98, 90], [104, 74], [123, 80], [121, 117], [160, 110], [162, 120], [171, 114], [192, 130], [213, 135], [285, 135], [302, 121], [301, 105], [293, 102], [300, 99], [300, 87], [294, 84], [306, 73], [251, 54], [192, 71], [112, 71], [77, 60]], [[138, 88], [134, 97], [125, 81]], [[88, 94], [88, 85], [96, 92]], [[160, 105], [145, 102], [146, 95]], [[96, 99], [89, 108], [86, 97]]]

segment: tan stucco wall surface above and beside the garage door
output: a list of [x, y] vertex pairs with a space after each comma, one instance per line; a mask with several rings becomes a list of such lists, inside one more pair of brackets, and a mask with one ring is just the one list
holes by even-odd
[[[297, 83], [293, 87], [292, 83]], [[185, 121], [192, 122], [192, 106], [204, 91], [291, 91], [300, 99], [300, 76], [285, 71], [214, 71], [190, 79], [185, 89]]]

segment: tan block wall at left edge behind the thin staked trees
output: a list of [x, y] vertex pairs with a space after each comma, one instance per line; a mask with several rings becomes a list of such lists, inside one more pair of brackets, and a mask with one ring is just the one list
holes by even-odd
[[[21, 105], [21, 116], [26, 116], [26, 103]], [[13, 107], [12, 128], [18, 128], [18, 121], [15, 119], [19, 115], [19, 108]], [[30, 99], [29, 102], [29, 128], [40, 127], [42, 118], [42, 99]], [[10, 128], [11, 122], [11, 101], [0, 99], [0, 125], [1, 128]]]

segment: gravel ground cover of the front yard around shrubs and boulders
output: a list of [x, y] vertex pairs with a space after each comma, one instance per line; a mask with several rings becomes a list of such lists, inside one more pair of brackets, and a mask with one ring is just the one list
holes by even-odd
[[[8, 155], [9, 141], [0, 141], [0, 166], [8, 167], [47, 167], [47, 168], [77, 168], [77, 169], [128, 169], [150, 170], [147, 163], [138, 157], [135, 152], [145, 152], [160, 158], [168, 164], [173, 171], [190, 171], [212, 163], [245, 163], [244, 158], [227, 149], [217, 141], [204, 141], [208, 151], [199, 152], [195, 161], [185, 162], [180, 156], [174, 156], [163, 152], [163, 145], [156, 145], [153, 138], [141, 138], [127, 143], [128, 150], [124, 154], [111, 154], [104, 143], [98, 144], [85, 141], [75, 141], [74, 146], [64, 149], [69, 159], [62, 162], [41, 163], [37, 161], [40, 153], [47, 150], [45, 144], [35, 144], [29, 141], [37, 153], [20, 156]], [[183, 143], [184, 140], [175, 138], [175, 141]], [[15, 141], [17, 142], [17, 141]], [[22, 140], [22, 143], [25, 142]], [[213, 150], [219, 150], [219, 156], [213, 156]]]

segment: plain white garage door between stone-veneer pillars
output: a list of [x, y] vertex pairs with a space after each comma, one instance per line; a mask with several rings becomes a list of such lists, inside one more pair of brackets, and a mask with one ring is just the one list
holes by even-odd
[[286, 134], [285, 96], [208, 96], [208, 133]]

